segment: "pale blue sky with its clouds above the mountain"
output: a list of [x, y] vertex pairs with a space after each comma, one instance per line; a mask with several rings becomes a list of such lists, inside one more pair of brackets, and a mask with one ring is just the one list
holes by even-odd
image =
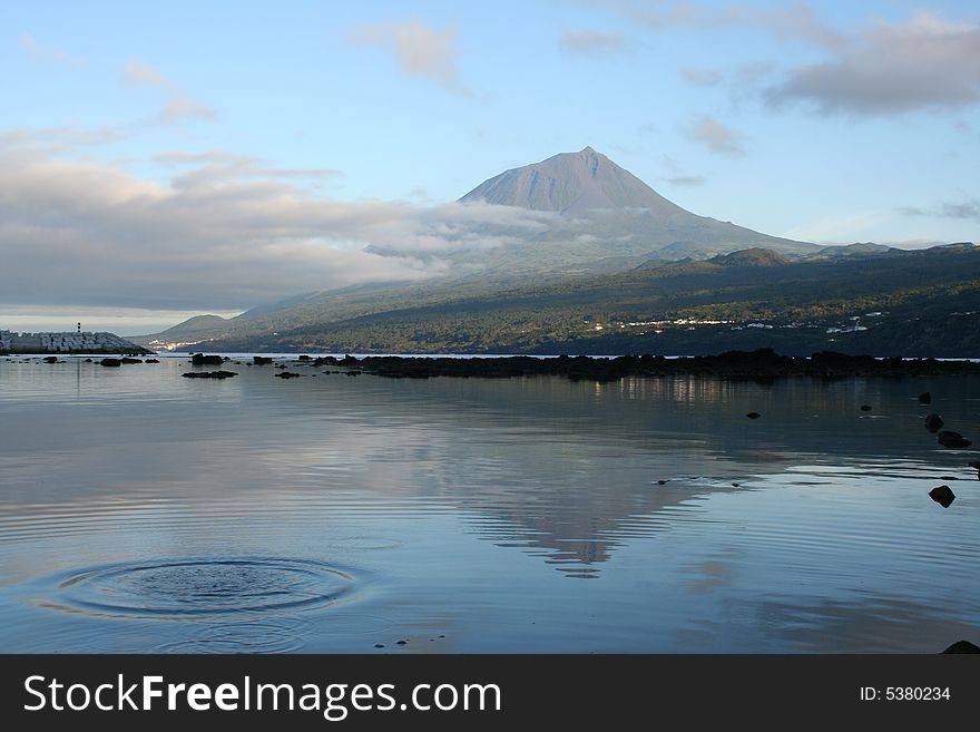
[[31, 1], [0, 29], [0, 328], [428, 276], [360, 250], [438, 250], [489, 215], [448, 202], [586, 145], [770, 234], [980, 240], [974, 2]]

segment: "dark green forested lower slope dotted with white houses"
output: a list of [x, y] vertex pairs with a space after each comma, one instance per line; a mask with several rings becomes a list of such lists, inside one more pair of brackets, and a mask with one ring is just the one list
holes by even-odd
[[[553, 281], [311, 323], [212, 350], [980, 355], [980, 247], [773, 265], [772, 252]], [[856, 320], [855, 320], [856, 319]]]

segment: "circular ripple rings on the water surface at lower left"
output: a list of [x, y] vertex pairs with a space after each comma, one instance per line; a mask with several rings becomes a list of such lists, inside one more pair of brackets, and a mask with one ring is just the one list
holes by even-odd
[[330, 605], [351, 575], [317, 562], [268, 557], [117, 564], [62, 576], [47, 607], [110, 617], [208, 617]]

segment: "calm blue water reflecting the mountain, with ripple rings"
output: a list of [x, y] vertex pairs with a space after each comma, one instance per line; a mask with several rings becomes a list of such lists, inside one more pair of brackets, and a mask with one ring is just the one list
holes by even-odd
[[980, 642], [980, 379], [226, 368], [0, 360], [0, 651]]

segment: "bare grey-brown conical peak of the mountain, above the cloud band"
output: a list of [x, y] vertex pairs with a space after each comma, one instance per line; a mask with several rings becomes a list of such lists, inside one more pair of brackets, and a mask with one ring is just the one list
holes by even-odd
[[506, 170], [481, 183], [459, 202], [483, 202], [559, 214], [580, 214], [597, 208], [643, 208], [672, 217], [686, 213], [591, 147]]

